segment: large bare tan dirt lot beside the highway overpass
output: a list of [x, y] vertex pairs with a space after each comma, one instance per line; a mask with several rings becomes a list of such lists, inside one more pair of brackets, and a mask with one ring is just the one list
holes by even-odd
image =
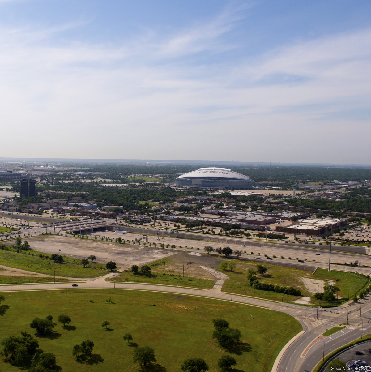
[[42, 253], [59, 253], [78, 259], [87, 258], [91, 254], [97, 257], [97, 262], [116, 262], [122, 269], [132, 265], [142, 265], [171, 256], [175, 252], [149, 248], [138, 245], [110, 243], [109, 241], [82, 240], [63, 236], [38, 236], [28, 240], [30, 247]]

